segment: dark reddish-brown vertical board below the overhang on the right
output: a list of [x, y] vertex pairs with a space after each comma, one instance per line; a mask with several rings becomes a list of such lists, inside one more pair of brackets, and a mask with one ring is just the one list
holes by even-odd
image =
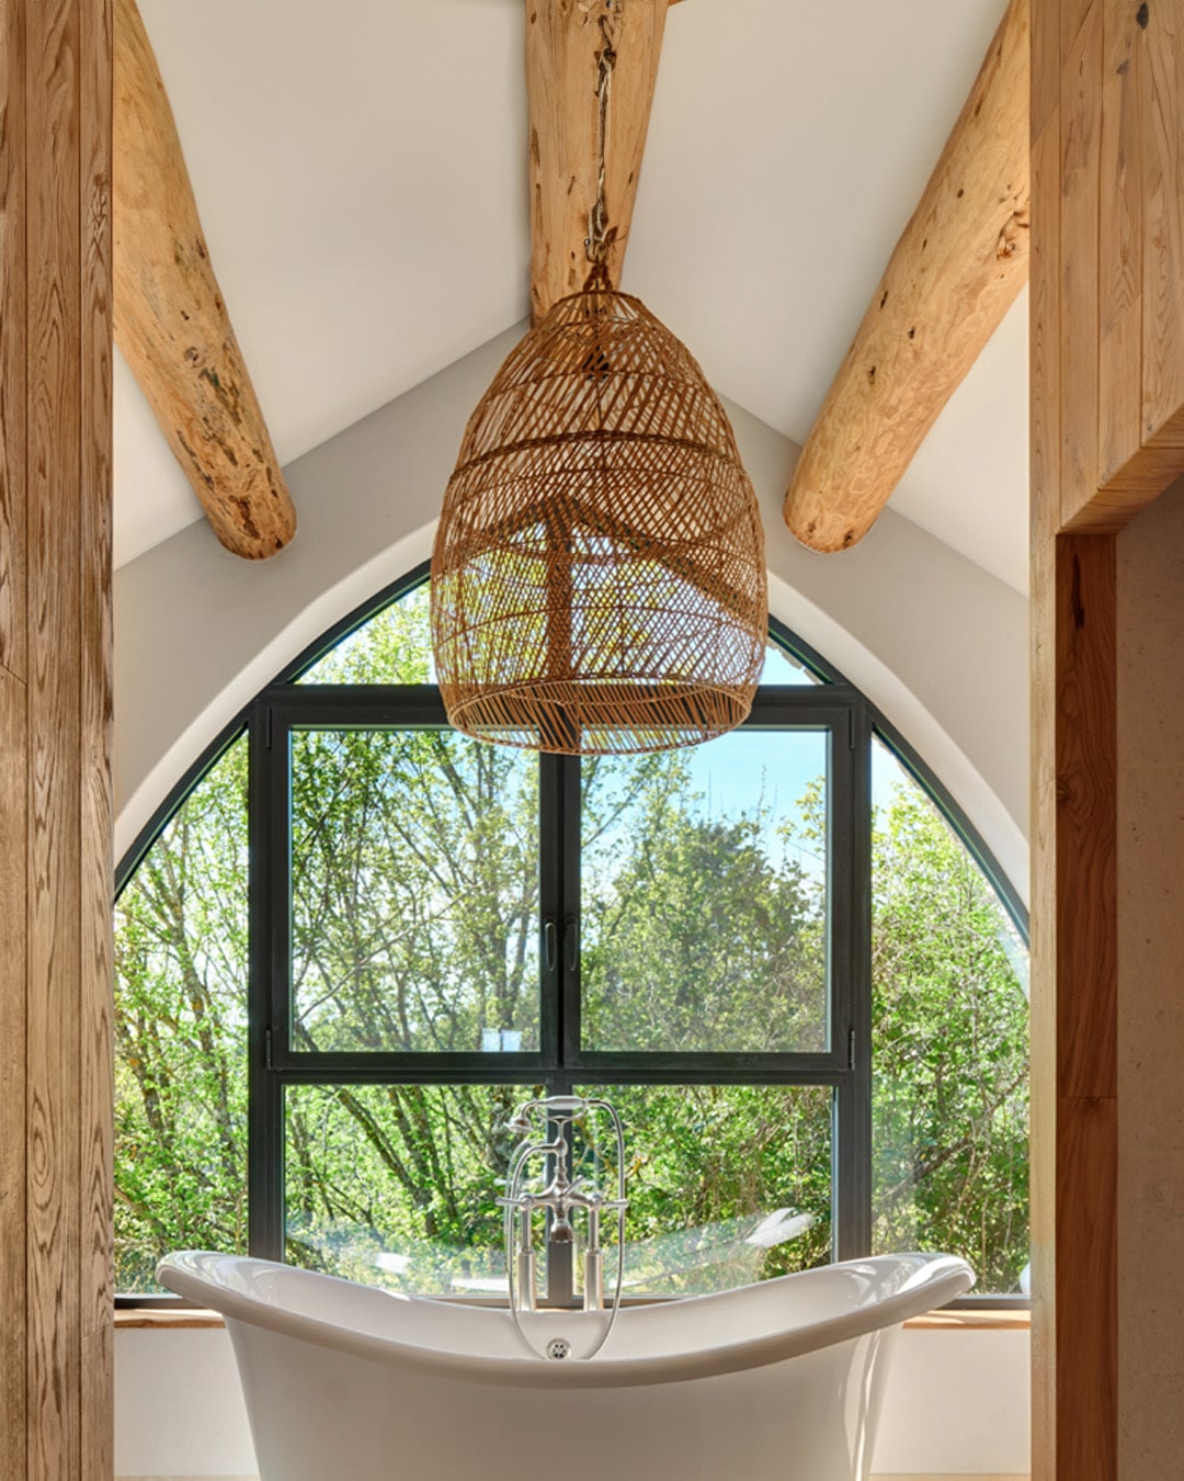
[[1057, 1456], [1117, 1478], [1117, 561], [1061, 535], [1055, 572]]

